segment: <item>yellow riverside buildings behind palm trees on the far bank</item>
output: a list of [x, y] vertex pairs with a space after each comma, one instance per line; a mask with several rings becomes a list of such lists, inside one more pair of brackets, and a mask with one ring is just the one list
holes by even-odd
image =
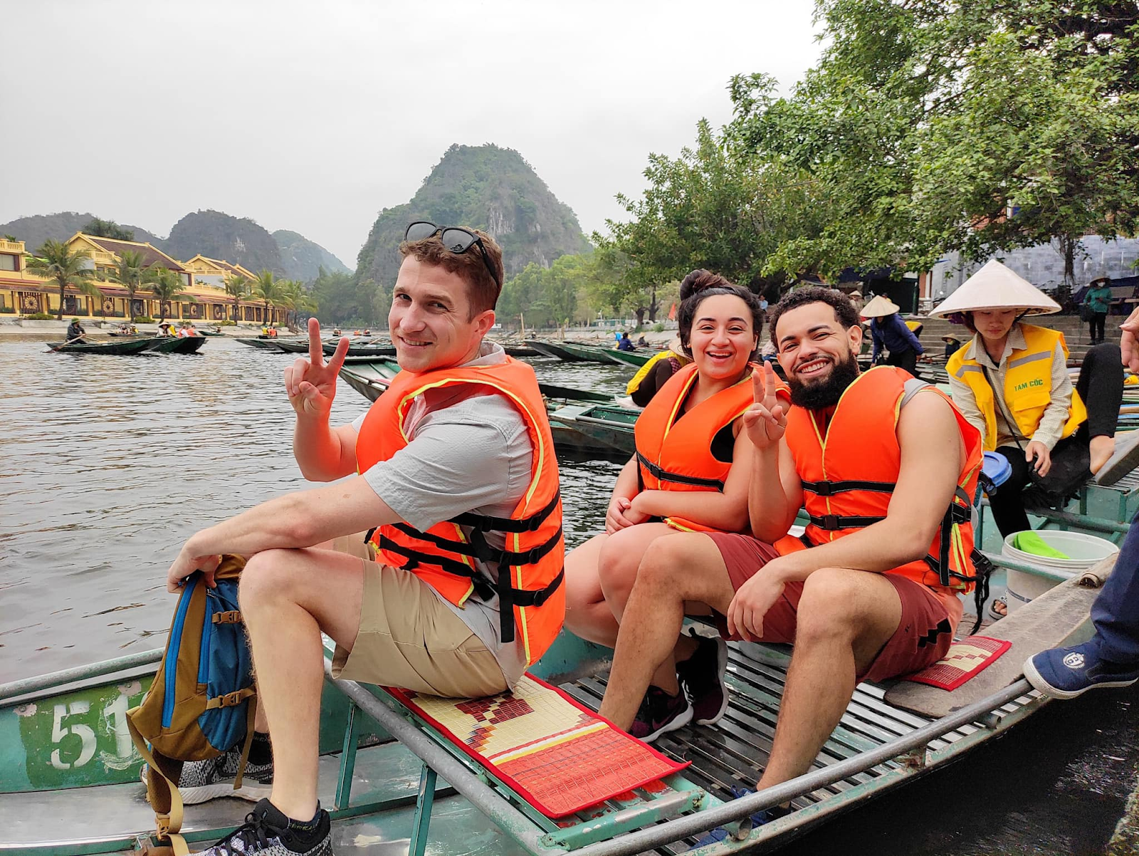
[[[79, 290], [67, 288], [64, 295], [64, 315], [68, 316], [93, 318], [128, 316], [126, 290], [118, 283], [110, 282], [104, 274], [113, 269], [118, 262], [120, 254], [128, 250], [137, 252], [142, 258], [145, 268], [163, 267], [178, 274], [186, 284], [186, 293], [197, 300], [197, 302], [166, 301], [165, 305], [159, 305], [159, 301], [144, 286], [134, 292], [131, 315], [136, 317], [232, 320], [233, 299], [226, 293], [224, 279], [229, 276], [241, 276], [247, 279], [254, 277], [254, 274], [239, 264], [207, 259], [200, 254], [189, 262], [180, 262], [156, 246], [137, 241], [116, 241], [75, 233], [64, 243], [72, 250], [82, 251], [90, 256], [90, 267], [96, 271], [91, 282], [104, 295], [101, 299], [90, 297]], [[27, 255], [23, 241], [0, 241], [0, 317], [36, 312], [55, 315], [59, 310], [59, 286], [28, 271]], [[285, 310], [270, 308], [265, 317], [263, 304], [251, 300], [240, 301], [238, 308], [240, 320], [244, 321], [281, 323], [285, 319]]]

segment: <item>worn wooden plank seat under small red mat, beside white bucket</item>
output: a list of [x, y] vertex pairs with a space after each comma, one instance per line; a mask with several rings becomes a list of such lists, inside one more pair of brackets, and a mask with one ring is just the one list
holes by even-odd
[[[1106, 579], [1115, 566], [1116, 555], [1101, 561], [1092, 572]], [[1024, 661], [1033, 654], [1090, 638], [1088, 615], [1098, 594], [1098, 588], [1080, 585], [1079, 577], [1062, 582], [985, 629], [985, 636], [1011, 642], [1013, 647], [957, 690], [948, 692], [900, 680], [886, 692], [885, 700], [904, 710], [937, 718], [984, 699], [1022, 678]]]

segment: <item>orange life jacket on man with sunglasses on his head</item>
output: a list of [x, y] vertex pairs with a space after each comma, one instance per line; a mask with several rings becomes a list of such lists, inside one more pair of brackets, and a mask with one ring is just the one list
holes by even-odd
[[[507, 357], [493, 366], [400, 372], [360, 426], [357, 467], [362, 473], [408, 445], [404, 421], [417, 396], [460, 384], [477, 384], [506, 397], [525, 421], [533, 447], [525, 495], [509, 519], [467, 512], [426, 532], [408, 523], [379, 527], [370, 540], [378, 551], [378, 561], [411, 571], [458, 606], [473, 593], [486, 600], [497, 592], [501, 639], [513, 642], [517, 628], [526, 663], [531, 665], [554, 642], [565, 618], [558, 463], [534, 370]], [[505, 533], [506, 549], [486, 544], [489, 531]], [[498, 579], [487, 580], [476, 571], [475, 559], [498, 565]]]

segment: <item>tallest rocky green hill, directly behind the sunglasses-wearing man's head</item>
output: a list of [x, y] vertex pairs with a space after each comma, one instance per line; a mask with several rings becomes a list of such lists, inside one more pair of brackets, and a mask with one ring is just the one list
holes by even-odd
[[379, 213], [357, 260], [358, 282], [391, 287], [411, 220], [485, 230], [502, 246], [507, 278], [589, 248], [576, 215], [522, 155], [490, 144], [451, 146], [410, 202]]

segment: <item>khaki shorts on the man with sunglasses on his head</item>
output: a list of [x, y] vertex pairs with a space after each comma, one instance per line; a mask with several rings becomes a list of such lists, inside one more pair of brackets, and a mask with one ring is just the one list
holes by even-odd
[[494, 654], [431, 586], [371, 561], [362, 532], [331, 546], [363, 562], [360, 631], [351, 651], [336, 646], [333, 677], [457, 699], [507, 688]]

